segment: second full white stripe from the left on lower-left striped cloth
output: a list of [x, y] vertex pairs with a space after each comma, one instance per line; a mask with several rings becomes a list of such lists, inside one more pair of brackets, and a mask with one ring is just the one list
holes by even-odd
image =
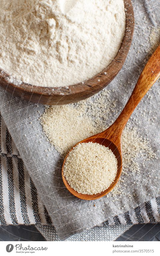
[[22, 212], [21, 212], [21, 204], [20, 204], [19, 173], [18, 173], [17, 161], [18, 161], [17, 158], [12, 158], [13, 182], [14, 182], [14, 201], [15, 201], [17, 222], [18, 222], [18, 224], [24, 224], [23, 216], [22, 216]]

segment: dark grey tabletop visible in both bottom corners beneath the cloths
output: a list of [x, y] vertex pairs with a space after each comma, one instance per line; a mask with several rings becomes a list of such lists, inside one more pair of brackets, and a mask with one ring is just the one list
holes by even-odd
[[[0, 241], [46, 241], [35, 226], [0, 226]], [[160, 241], [160, 223], [134, 225], [116, 241]]]

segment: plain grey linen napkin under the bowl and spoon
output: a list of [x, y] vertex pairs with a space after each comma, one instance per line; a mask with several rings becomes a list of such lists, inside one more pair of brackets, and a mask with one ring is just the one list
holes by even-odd
[[[124, 67], [105, 89], [113, 88], [115, 91], [112, 95], [112, 99], [117, 100], [115, 101], [117, 109], [115, 119], [130, 96], [145, 65], [147, 52], [150, 53], [151, 45], [149, 46], [148, 39], [153, 29], [152, 26], [157, 29], [159, 25], [158, 17], [155, 18], [152, 15], [152, 8], [146, 12], [147, 1], [133, 1], [133, 5], [136, 21], [134, 41]], [[155, 7], [156, 1], [152, 1], [152, 5]], [[110, 197], [97, 200], [96, 207], [93, 207], [92, 201], [82, 201], [73, 197], [64, 187], [61, 178], [63, 159], [59, 153], [54, 149], [47, 153], [48, 156], [46, 155], [45, 150], [48, 151], [51, 146], [46, 141], [38, 120], [44, 111], [44, 106], [23, 101], [23, 95], [21, 99], [18, 99], [0, 90], [0, 111], [3, 119], [60, 239], [90, 229], [158, 196], [159, 183], [158, 179], [154, 179], [155, 176], [159, 176], [158, 90], [157, 83], [144, 97], [129, 121], [133, 127], [137, 127], [143, 137], [151, 140], [150, 147], [156, 153], [157, 159], [148, 161], [145, 166], [142, 165], [141, 160], [138, 160], [141, 174], [137, 177], [133, 173], [131, 178], [126, 180], [126, 194], [117, 195], [114, 202]], [[144, 116], [143, 113], [145, 113]], [[30, 122], [33, 123], [32, 126]], [[131, 198], [128, 198], [127, 194], [130, 194]], [[134, 218], [134, 212], [132, 215]]]

